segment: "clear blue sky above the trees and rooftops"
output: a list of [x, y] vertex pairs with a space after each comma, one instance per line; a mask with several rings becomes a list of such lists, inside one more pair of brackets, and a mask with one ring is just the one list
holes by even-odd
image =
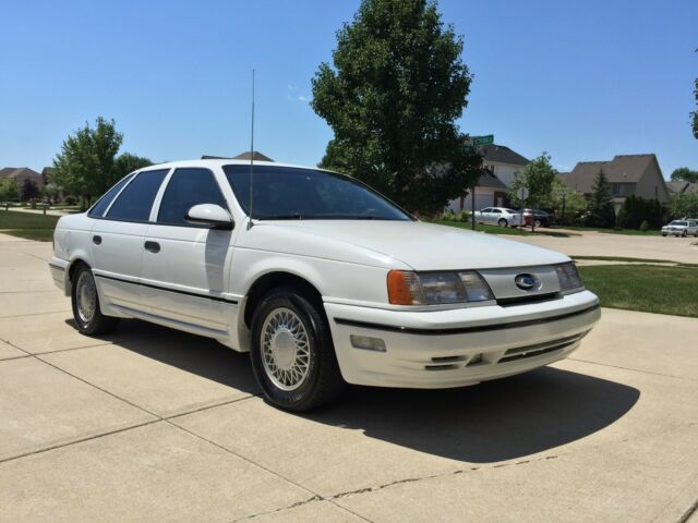
[[[154, 160], [255, 148], [316, 163], [332, 131], [311, 77], [358, 1], [0, 0], [0, 167], [41, 169], [62, 139], [113, 118], [123, 150]], [[698, 1], [442, 0], [474, 75], [462, 132], [494, 133], [561, 170], [655, 153], [698, 169], [689, 129]]]

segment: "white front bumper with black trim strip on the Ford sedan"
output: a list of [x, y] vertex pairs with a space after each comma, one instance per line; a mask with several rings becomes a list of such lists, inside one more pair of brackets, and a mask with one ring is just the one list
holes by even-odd
[[[325, 303], [341, 375], [350, 384], [448, 388], [474, 385], [566, 357], [601, 317], [589, 291], [515, 306], [434, 312]], [[385, 352], [356, 349], [351, 335]]]

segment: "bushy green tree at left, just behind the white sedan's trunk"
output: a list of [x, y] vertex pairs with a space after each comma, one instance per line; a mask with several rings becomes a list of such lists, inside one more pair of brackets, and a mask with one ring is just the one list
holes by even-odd
[[115, 157], [123, 136], [113, 120], [98, 117], [70, 135], [53, 160], [51, 182], [81, 196], [83, 208], [92, 196], [104, 193], [116, 181]]

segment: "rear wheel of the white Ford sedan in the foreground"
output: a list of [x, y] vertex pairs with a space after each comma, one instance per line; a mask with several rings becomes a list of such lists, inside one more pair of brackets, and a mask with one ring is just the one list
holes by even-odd
[[72, 277], [71, 302], [73, 319], [83, 335], [105, 335], [119, 324], [119, 318], [101, 314], [95, 277], [89, 267], [82, 263]]

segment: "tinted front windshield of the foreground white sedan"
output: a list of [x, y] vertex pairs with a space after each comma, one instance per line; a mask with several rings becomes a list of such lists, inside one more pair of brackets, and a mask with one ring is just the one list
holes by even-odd
[[[250, 214], [250, 166], [224, 166], [228, 183]], [[411, 220], [395, 204], [341, 174], [254, 166], [253, 218], [262, 220]]]

